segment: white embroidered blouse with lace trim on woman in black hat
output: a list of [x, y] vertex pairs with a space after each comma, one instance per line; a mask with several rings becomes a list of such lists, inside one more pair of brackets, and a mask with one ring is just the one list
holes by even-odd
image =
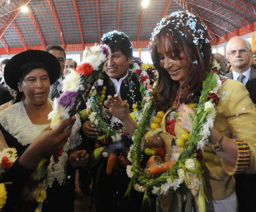
[[[53, 104], [51, 99], [48, 101]], [[23, 102], [16, 103], [6, 109], [0, 111], [0, 123], [13, 137], [17, 138], [18, 142], [22, 145], [32, 143], [32, 141], [40, 134], [40, 132], [48, 126], [35, 125], [29, 119]], [[51, 171], [48, 173], [47, 183], [49, 187], [52, 187], [52, 183], [55, 179], [61, 185], [65, 182], [65, 166], [68, 160], [68, 151], [74, 149], [81, 144], [81, 136], [79, 129], [81, 127], [81, 121], [79, 115], [76, 115], [76, 122], [72, 127], [68, 142], [63, 147], [63, 154], [58, 157], [58, 163], [52, 165]]]

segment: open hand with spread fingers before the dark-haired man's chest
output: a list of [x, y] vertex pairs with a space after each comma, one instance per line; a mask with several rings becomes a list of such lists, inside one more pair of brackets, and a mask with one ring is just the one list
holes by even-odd
[[108, 96], [107, 101], [104, 101], [104, 105], [108, 108], [104, 109], [106, 113], [115, 116], [121, 121], [129, 115], [127, 100], [122, 101], [118, 94], [115, 94], [114, 97]]

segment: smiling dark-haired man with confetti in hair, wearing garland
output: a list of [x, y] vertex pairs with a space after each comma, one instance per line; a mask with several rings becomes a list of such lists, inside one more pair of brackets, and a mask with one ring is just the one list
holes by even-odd
[[[86, 121], [83, 125], [84, 134], [96, 142], [96, 147], [105, 145], [103, 158], [100, 160], [99, 166], [94, 168], [97, 172], [93, 180], [96, 211], [139, 212], [142, 195], [132, 190], [129, 197], [124, 197], [130, 181], [125, 169], [129, 163], [126, 156], [132, 140], [127, 136], [126, 131], [120, 134], [116, 133], [117, 130], [123, 128], [121, 122], [116, 117], [105, 114], [102, 111], [104, 109], [102, 105], [109, 96], [113, 97], [117, 94], [127, 101], [129, 112], [139, 110], [142, 97], [140, 82], [134, 74], [134, 69], [140, 69], [140, 67], [131, 63], [132, 44], [123, 32], [116, 30], [108, 32], [103, 35], [101, 43], [110, 47], [111, 56], [87, 97], [87, 109], [91, 115], [89, 115], [90, 121]], [[95, 99], [98, 99], [99, 102], [94, 102]], [[95, 104], [102, 108], [97, 110], [93, 106]], [[93, 118], [95, 114], [97, 114], [97, 119]], [[102, 122], [106, 124], [103, 126]], [[107, 128], [111, 129], [106, 132]], [[110, 162], [111, 158], [114, 158], [112, 163]], [[110, 164], [112, 164], [112, 169]]]

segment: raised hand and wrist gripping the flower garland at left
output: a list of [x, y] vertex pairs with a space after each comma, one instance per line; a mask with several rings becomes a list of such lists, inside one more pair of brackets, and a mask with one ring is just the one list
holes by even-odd
[[46, 127], [19, 158], [21, 165], [33, 169], [43, 157], [58, 153], [70, 137], [75, 120], [75, 116], [66, 119], [54, 130]]

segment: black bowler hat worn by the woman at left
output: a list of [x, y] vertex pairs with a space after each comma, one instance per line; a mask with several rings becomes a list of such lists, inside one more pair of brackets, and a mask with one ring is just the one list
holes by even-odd
[[50, 83], [54, 83], [60, 74], [58, 59], [49, 52], [41, 50], [28, 50], [13, 56], [6, 63], [4, 78], [6, 84], [14, 90], [18, 90], [18, 82], [23, 74], [20, 68], [29, 62], [43, 63], [47, 68]]

